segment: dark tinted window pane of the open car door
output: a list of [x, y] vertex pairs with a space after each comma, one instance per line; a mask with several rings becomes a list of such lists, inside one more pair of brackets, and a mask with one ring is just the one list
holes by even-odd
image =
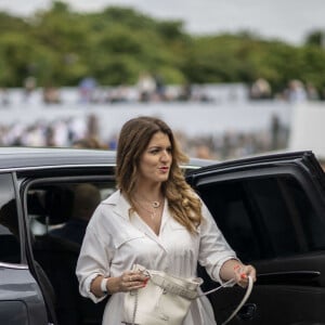
[[325, 248], [324, 218], [291, 176], [217, 183], [200, 193], [244, 261]]

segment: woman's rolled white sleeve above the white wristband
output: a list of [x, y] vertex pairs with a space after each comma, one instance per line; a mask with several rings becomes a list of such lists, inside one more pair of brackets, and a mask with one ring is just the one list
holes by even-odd
[[105, 296], [94, 296], [90, 286], [96, 276], [109, 276], [109, 260], [113, 255], [109, 248], [109, 236], [105, 236], [108, 240], [103, 240], [103, 227], [100, 226], [101, 213], [102, 209], [96, 209], [91, 218], [76, 268], [80, 295], [90, 298], [93, 302], [100, 302], [105, 298]]

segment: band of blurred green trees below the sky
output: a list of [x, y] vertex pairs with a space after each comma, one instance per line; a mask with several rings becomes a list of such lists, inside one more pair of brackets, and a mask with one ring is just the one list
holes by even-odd
[[325, 88], [323, 34], [306, 46], [263, 40], [247, 31], [194, 37], [181, 21], [158, 21], [133, 9], [74, 12], [54, 1], [26, 18], [0, 12], [0, 86], [76, 86], [84, 76], [100, 84], [134, 84], [143, 72], [167, 83], [246, 82], [266, 79], [282, 91], [291, 79]]

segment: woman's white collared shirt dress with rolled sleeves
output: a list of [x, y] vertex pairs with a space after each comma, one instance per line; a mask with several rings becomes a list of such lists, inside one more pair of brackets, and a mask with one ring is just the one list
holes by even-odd
[[[177, 276], [196, 276], [197, 262], [206, 268], [216, 282], [222, 264], [236, 258], [218, 229], [207, 207], [204, 220], [192, 235], [169, 213], [165, 202], [159, 235], [134, 212], [129, 218], [130, 205], [115, 192], [103, 200], [91, 218], [81, 246], [76, 274], [80, 294], [94, 302], [90, 284], [99, 274], [120, 276], [134, 263]], [[118, 325], [122, 321], [123, 292], [112, 295], [105, 307], [103, 325]], [[183, 325], [216, 325], [213, 311], [206, 297], [194, 300]]]

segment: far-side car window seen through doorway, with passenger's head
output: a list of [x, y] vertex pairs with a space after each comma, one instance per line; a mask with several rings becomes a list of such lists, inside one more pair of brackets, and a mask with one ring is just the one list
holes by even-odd
[[29, 186], [27, 213], [31, 233], [35, 236], [60, 233], [58, 230], [76, 220], [87, 224], [100, 202], [114, 191], [113, 181], [53, 180]]

